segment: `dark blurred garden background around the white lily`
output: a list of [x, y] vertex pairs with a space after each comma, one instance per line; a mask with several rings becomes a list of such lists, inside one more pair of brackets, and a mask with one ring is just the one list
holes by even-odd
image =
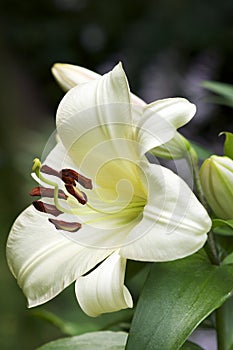
[[5, 243], [13, 220], [31, 201], [32, 160], [54, 130], [63, 93], [51, 76], [52, 64], [105, 73], [118, 61], [131, 90], [147, 102], [183, 96], [197, 104], [196, 118], [183, 130], [187, 137], [220, 153], [218, 133], [233, 130], [232, 110], [214, 104], [201, 87], [203, 80], [233, 83], [232, 0], [1, 0], [0, 349], [35, 349], [62, 335], [36, 310], [79, 322], [78, 332], [112, 321], [84, 316], [72, 286], [28, 310], [7, 268]]

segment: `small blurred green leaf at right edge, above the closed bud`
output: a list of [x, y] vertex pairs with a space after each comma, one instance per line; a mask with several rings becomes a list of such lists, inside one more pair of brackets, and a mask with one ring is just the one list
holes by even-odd
[[204, 81], [202, 86], [208, 90], [220, 95], [223, 99], [218, 99], [217, 102], [233, 107], [233, 86], [230, 84], [219, 83], [216, 81]]

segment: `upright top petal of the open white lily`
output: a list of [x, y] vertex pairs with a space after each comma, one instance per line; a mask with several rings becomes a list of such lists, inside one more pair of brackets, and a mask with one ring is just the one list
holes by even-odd
[[[98, 80], [71, 89], [57, 112], [62, 143], [77, 167], [91, 179], [100, 167], [108, 167], [109, 161], [113, 164], [122, 154], [127, 160], [138, 160], [135, 147], [127, 144], [134, 139], [132, 123], [128, 82], [121, 65]], [[114, 172], [114, 166], [111, 168]]]

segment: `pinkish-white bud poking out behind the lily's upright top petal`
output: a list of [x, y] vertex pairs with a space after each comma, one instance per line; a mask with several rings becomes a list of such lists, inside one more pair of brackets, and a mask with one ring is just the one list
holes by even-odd
[[[96, 80], [101, 77], [89, 69], [73, 64], [56, 63], [52, 67], [52, 73], [58, 84], [64, 91], [68, 91], [76, 85], [86, 83], [90, 80]], [[130, 94], [131, 102], [135, 105], [144, 106], [146, 103], [134, 94]]]

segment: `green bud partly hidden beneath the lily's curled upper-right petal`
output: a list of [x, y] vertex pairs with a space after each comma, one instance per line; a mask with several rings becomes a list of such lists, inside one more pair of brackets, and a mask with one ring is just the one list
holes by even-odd
[[179, 132], [164, 145], [153, 148], [150, 153], [156, 157], [165, 159], [181, 159], [187, 156], [190, 150], [189, 141]]

